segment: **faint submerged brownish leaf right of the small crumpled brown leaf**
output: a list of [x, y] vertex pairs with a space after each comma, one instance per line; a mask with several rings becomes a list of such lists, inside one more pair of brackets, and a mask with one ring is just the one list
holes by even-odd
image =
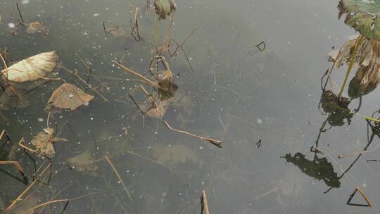
[[68, 163], [78, 172], [87, 172], [89, 175], [96, 176], [98, 166], [94, 164], [94, 158], [89, 151], [84, 151], [77, 156], [68, 158]]

